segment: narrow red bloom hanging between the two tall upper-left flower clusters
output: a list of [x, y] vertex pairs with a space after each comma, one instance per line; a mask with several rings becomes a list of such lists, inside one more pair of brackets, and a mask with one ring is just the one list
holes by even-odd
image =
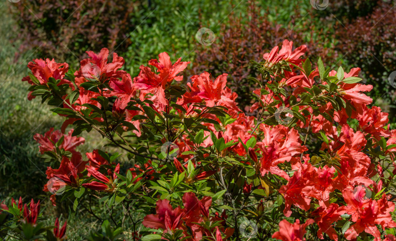
[[129, 73], [123, 74], [121, 81], [116, 78], [111, 79], [110, 87], [113, 89], [111, 91], [111, 95], [117, 96], [119, 98], [117, 104], [120, 109], [125, 109], [131, 98], [136, 94], [136, 91], [132, 85], [132, 78]]

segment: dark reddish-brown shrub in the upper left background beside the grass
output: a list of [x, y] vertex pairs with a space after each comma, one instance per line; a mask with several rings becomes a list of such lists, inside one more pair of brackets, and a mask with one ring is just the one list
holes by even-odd
[[10, 4], [10, 10], [21, 28], [21, 52], [38, 48], [44, 56], [65, 59], [80, 57], [87, 48], [126, 50], [137, 4], [134, 0], [33, 0]]

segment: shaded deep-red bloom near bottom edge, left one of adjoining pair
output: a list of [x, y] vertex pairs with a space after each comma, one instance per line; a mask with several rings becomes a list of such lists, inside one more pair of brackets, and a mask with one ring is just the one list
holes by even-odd
[[169, 204], [167, 199], [158, 200], [155, 207], [156, 214], [144, 217], [142, 224], [148, 228], [174, 230], [181, 227], [181, 217], [183, 211], [180, 207], [175, 209]]

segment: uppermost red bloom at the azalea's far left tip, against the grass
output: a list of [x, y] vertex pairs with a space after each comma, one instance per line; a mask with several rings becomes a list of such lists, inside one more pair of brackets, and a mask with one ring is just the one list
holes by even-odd
[[[29, 62], [27, 64], [27, 67], [32, 71], [32, 74], [40, 82], [40, 85], [46, 85], [48, 79], [50, 77], [53, 77], [56, 80], [61, 80], [58, 83], [58, 86], [62, 84], [68, 84], [74, 90], [73, 84], [69, 80], [64, 79], [65, 74], [69, 68], [66, 63], [56, 63], [54, 59], [33, 59], [33, 62]], [[27, 81], [31, 85], [37, 85], [30, 79], [30, 76], [23, 77], [22, 81]], [[31, 94], [32, 92], [27, 95], [27, 98], [29, 100], [32, 100], [36, 97], [32, 96]]]

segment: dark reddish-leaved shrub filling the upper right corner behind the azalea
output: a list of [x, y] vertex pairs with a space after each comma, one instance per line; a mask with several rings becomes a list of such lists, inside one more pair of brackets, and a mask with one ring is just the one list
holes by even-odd
[[379, 1], [373, 13], [337, 27], [338, 51], [348, 63], [365, 69], [364, 77], [379, 95], [388, 92], [388, 76], [396, 70], [396, 8]]

